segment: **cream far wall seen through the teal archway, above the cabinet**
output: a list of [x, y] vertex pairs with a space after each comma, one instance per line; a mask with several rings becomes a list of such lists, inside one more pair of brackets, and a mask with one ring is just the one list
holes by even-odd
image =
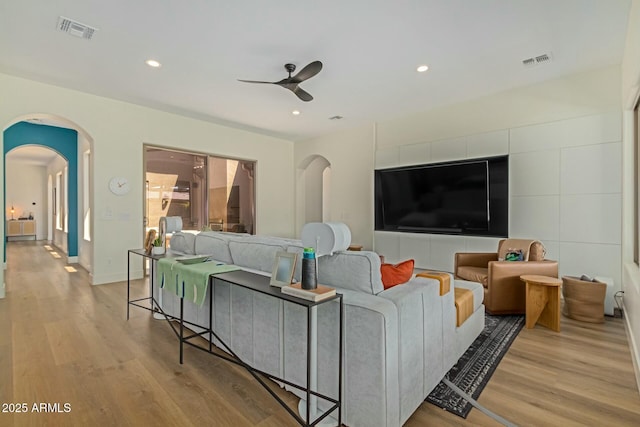
[[[47, 171], [44, 166], [37, 166], [19, 160], [6, 163], [7, 174], [7, 212], [11, 219], [11, 206], [15, 208], [14, 218], [28, 217], [33, 213], [36, 220], [36, 239], [47, 237]], [[35, 205], [33, 204], [35, 203]]]

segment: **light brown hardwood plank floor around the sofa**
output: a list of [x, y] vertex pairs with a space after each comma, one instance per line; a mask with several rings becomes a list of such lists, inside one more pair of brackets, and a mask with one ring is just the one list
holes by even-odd
[[[0, 426], [296, 425], [242, 368], [188, 346], [180, 365], [166, 322], [136, 308], [127, 321], [126, 283], [91, 286], [86, 271], [66, 271], [42, 242], [7, 251], [0, 403], [26, 403], [28, 412], [0, 412]], [[136, 282], [134, 292], [145, 290]], [[563, 317], [561, 327], [523, 330], [479, 402], [522, 426], [640, 425], [623, 322]], [[71, 411], [34, 412], [34, 403]], [[499, 424], [476, 409], [463, 420], [424, 403], [406, 425]]]

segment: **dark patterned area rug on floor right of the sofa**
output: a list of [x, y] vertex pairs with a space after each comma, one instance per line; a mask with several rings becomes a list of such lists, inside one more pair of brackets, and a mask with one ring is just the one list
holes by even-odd
[[[447, 373], [446, 378], [477, 400], [524, 323], [524, 315], [485, 314], [484, 330]], [[472, 408], [469, 402], [443, 382], [425, 400], [462, 418], [467, 418]]]

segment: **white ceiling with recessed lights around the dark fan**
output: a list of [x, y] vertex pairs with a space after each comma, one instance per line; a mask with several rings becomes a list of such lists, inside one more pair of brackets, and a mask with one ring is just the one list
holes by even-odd
[[[630, 1], [4, 0], [0, 72], [297, 141], [619, 64]], [[98, 31], [59, 32], [60, 15]], [[314, 60], [308, 103], [237, 81]]]

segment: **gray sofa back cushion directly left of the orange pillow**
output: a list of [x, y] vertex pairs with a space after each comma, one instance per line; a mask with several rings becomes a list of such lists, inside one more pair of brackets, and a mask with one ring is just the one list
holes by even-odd
[[318, 282], [377, 295], [384, 290], [380, 256], [370, 251], [339, 251], [318, 258]]

